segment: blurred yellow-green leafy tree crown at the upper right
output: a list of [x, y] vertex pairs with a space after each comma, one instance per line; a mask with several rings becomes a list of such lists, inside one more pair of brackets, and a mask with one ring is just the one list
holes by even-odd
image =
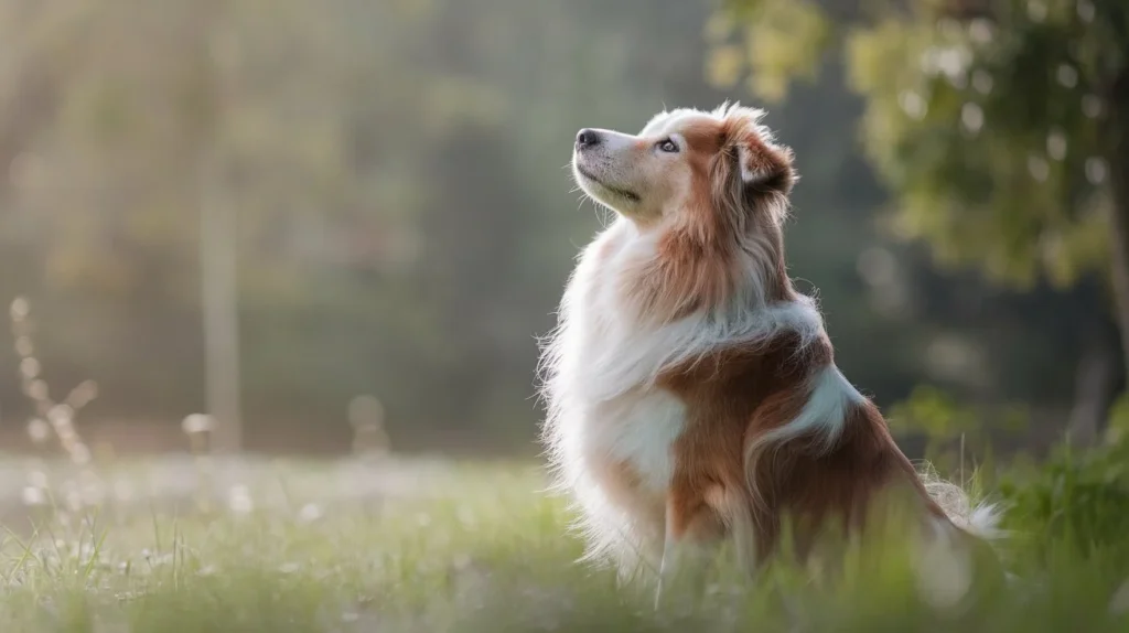
[[[711, 74], [781, 98], [841, 50], [863, 144], [895, 195], [890, 228], [944, 264], [1057, 287], [1097, 271], [1129, 364], [1129, 3], [1123, 0], [728, 0]], [[736, 37], [734, 35], [736, 34]], [[1100, 413], [1109, 339], [1079, 367]], [[1087, 438], [1083, 438], [1087, 439]]]

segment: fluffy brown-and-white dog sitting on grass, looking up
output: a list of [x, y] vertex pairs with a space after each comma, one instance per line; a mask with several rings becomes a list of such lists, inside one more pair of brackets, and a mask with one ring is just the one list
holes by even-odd
[[[928, 484], [834, 363], [795, 289], [784, 223], [793, 151], [739, 104], [673, 109], [638, 135], [585, 129], [572, 175], [614, 220], [583, 249], [543, 341], [543, 428], [587, 560], [668, 578], [725, 539], [755, 569], [786, 517], [861, 529], [909, 491], [929, 530], [989, 536], [992, 507]], [[789, 526], [793, 524], [789, 522]]]

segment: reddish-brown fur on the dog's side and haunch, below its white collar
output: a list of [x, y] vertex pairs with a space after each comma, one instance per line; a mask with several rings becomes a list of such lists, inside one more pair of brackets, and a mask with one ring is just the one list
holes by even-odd
[[[755, 557], [763, 560], [777, 544], [781, 519], [790, 516], [804, 554], [829, 519], [863, 527], [872, 496], [890, 485], [908, 484], [929, 516], [944, 518], [870, 403], [849, 405], [843, 436], [829, 452], [803, 439], [770, 446], [746, 476], [745, 448], [796, 417], [807, 401], [806, 377], [832, 360], [826, 339], [804, 350], [797, 343], [786, 335], [663, 376], [660, 385], [689, 406], [674, 447], [674, 538], [751, 524]], [[691, 526], [711, 529], [693, 533]]]

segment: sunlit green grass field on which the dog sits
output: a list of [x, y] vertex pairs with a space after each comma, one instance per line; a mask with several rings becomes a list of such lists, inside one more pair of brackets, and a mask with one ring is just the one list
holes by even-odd
[[835, 572], [781, 563], [739, 582], [719, 565], [656, 610], [646, 587], [575, 563], [568, 511], [530, 465], [0, 471], [5, 632], [1129, 631], [1129, 533], [1082, 553], [1021, 526], [1008, 587], [886, 537]]

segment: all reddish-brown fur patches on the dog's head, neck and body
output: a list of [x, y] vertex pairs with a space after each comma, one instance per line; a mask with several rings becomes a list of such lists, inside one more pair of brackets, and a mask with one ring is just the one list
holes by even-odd
[[[701, 309], [719, 309], [744, 271], [738, 237], [755, 234], [768, 245], [768, 301], [796, 297], [787, 275], [779, 211], [795, 175], [791, 151], [762, 139], [747, 121], [698, 122], [682, 131], [693, 173], [691, 203], [666, 229], [658, 262], [640, 271], [629, 290], [645, 314], [674, 320]], [[746, 169], [763, 175], [747, 185], [738, 177], [737, 147], [747, 148]], [[777, 545], [781, 520], [795, 520], [804, 554], [830, 520], [863, 527], [872, 499], [890, 486], [908, 485], [930, 517], [944, 512], [929, 499], [912, 465], [890, 436], [877, 407], [848, 405], [843, 434], [826, 454], [804, 438], [764, 447], [746, 464], [746, 448], [765, 431], [794, 420], [809, 392], [808, 377], [833, 362], [823, 336], [800, 349], [797, 335], [719, 350], [690, 367], [662, 376], [659, 386], [689, 408], [675, 442], [669, 490], [671, 537], [710, 539], [728, 528], [752, 526], [756, 560]], [[750, 473], [749, 468], [753, 467]]]

